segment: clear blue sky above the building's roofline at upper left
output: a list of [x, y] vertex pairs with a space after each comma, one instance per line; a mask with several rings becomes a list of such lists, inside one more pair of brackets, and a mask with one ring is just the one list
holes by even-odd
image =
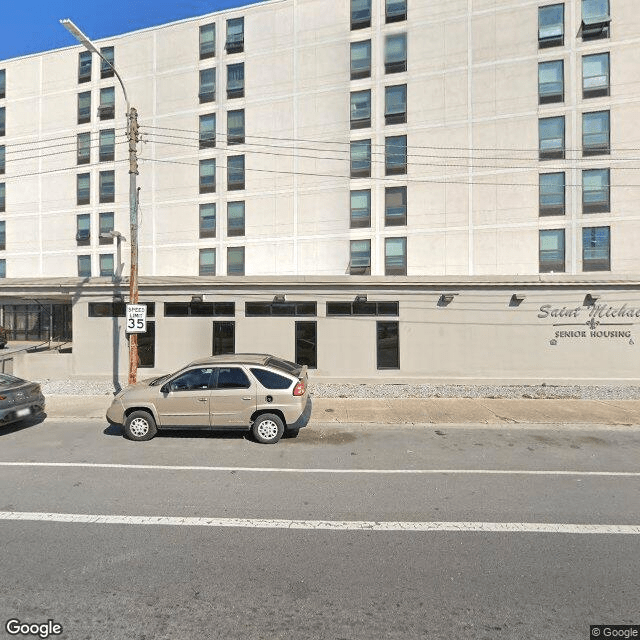
[[254, 0], [4, 0], [0, 60], [77, 44], [70, 18], [94, 40], [173, 20], [253, 4]]

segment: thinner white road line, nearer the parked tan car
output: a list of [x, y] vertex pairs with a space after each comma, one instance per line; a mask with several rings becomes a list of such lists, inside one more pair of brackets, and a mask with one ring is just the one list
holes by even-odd
[[156, 471], [246, 471], [250, 473], [352, 473], [371, 475], [522, 475], [596, 476], [640, 478], [640, 471], [566, 471], [552, 469], [315, 469], [278, 467], [209, 467], [187, 465], [115, 464], [99, 462], [0, 462], [0, 467], [69, 467], [87, 469], [133, 469]]

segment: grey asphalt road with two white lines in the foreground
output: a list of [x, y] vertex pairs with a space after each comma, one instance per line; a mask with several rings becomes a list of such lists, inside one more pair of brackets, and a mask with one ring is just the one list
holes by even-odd
[[639, 454], [630, 427], [3, 428], [0, 637], [588, 639], [640, 624]]

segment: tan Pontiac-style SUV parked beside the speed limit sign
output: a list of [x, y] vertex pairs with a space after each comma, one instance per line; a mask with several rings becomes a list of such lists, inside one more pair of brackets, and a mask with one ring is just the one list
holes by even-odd
[[295, 437], [311, 415], [307, 367], [260, 353], [212, 356], [116, 394], [111, 424], [130, 440], [158, 429], [250, 429], [264, 444]]

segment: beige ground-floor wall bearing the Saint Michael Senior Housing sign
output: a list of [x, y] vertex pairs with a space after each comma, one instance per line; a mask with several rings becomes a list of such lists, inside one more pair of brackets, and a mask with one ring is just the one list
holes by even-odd
[[[245, 317], [247, 300], [314, 300], [317, 316]], [[442, 292], [457, 293], [439, 306]], [[315, 380], [600, 383], [640, 382], [640, 295], [637, 286], [519, 283], [426, 285], [412, 281], [390, 288], [314, 286], [200, 287], [205, 302], [235, 302], [234, 317], [164, 317], [165, 301], [189, 301], [172, 292], [141, 293], [155, 302], [156, 365], [139, 376], [166, 373], [212, 353], [212, 323], [235, 321], [236, 352], [268, 352], [295, 359], [296, 320], [317, 322]], [[328, 301], [398, 301], [399, 316], [327, 316]], [[514, 293], [523, 299], [512, 306]], [[585, 302], [587, 294], [595, 306]], [[73, 374], [126, 380], [128, 353], [122, 318], [89, 318], [86, 295], [74, 306]], [[400, 368], [378, 370], [376, 322], [399, 322]], [[591, 324], [589, 324], [591, 323]], [[114, 358], [114, 353], [117, 354]]]

